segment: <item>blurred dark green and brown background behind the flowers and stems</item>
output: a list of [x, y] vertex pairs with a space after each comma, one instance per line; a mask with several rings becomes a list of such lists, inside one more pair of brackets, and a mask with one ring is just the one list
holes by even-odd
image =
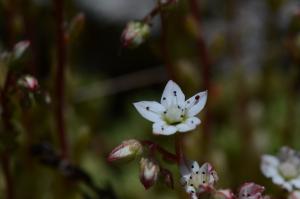
[[[158, 183], [145, 191], [138, 179], [139, 160], [128, 164], [106, 161], [115, 146], [130, 138], [151, 139], [174, 151], [174, 136], [152, 135], [151, 123], [132, 105], [160, 99], [170, 79], [166, 62], [187, 96], [208, 89], [207, 82], [210, 85], [209, 106], [200, 114], [202, 124], [183, 136], [186, 156], [211, 162], [220, 177], [219, 188], [236, 191], [241, 183], [253, 181], [266, 186], [267, 193], [282, 192], [262, 176], [259, 166], [262, 154], [276, 153], [282, 145], [300, 148], [300, 3], [199, 1], [201, 37], [211, 59], [209, 76], [203, 72], [197, 45], [199, 21], [193, 18], [189, 3], [179, 0], [164, 10], [163, 34], [161, 21], [155, 17], [149, 40], [138, 48], [124, 49], [120, 35], [126, 23], [147, 15], [155, 1], [64, 2], [64, 30], [69, 31], [64, 108], [69, 161], [102, 190], [97, 194], [64, 169], [49, 166], [48, 159], [38, 161], [39, 155], [31, 150], [38, 146], [41, 151], [47, 147], [60, 151], [53, 105], [57, 101], [55, 3], [1, 1], [1, 52], [17, 41], [29, 40], [29, 52], [18, 72], [33, 74], [53, 102], [10, 110], [18, 133], [9, 153], [14, 198], [113, 198], [104, 196], [105, 191], [122, 199], [186, 198], [175, 165], [164, 164], [173, 171], [175, 190]], [[79, 13], [84, 19], [74, 22]], [[5, 73], [0, 76], [4, 79]], [[5, 198], [5, 192], [1, 172], [0, 198]]]

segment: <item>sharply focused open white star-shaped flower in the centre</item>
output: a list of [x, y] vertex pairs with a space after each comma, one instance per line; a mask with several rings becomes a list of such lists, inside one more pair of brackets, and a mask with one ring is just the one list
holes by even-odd
[[201, 122], [195, 115], [203, 109], [206, 100], [207, 91], [204, 91], [185, 101], [180, 87], [170, 80], [162, 94], [161, 103], [141, 101], [134, 103], [134, 106], [144, 118], [154, 122], [154, 134], [171, 135], [177, 131], [195, 129]]

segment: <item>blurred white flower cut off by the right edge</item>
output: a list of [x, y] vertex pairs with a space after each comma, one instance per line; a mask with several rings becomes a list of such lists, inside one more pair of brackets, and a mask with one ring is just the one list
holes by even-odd
[[300, 153], [291, 148], [282, 147], [278, 156], [263, 155], [261, 171], [289, 192], [300, 189]]

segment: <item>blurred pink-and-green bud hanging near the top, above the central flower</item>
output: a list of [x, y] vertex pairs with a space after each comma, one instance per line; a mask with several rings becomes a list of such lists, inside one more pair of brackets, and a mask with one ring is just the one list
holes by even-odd
[[129, 22], [121, 36], [122, 45], [125, 48], [134, 48], [142, 43], [150, 35], [150, 26], [147, 23], [139, 21]]

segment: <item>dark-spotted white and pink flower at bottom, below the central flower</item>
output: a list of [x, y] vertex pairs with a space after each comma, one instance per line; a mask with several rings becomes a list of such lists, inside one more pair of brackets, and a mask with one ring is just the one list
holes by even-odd
[[217, 172], [209, 163], [201, 167], [196, 161], [180, 165], [181, 182], [191, 198], [197, 199], [201, 193], [214, 190], [214, 184], [218, 181]]

